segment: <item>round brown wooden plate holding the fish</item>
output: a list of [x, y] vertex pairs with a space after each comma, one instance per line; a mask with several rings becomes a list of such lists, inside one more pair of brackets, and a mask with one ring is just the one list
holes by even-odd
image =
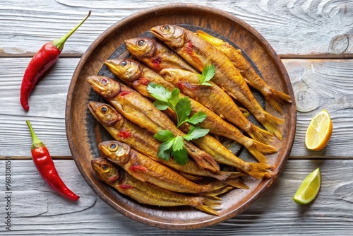
[[[159, 6], [135, 13], [112, 25], [83, 54], [68, 88], [66, 101], [68, 144], [73, 160], [86, 182], [103, 201], [124, 216], [157, 228], [195, 229], [215, 225], [236, 216], [251, 206], [270, 187], [275, 177], [263, 180], [245, 177], [244, 181], [250, 189], [234, 189], [223, 195], [222, 206], [219, 210], [220, 216], [217, 217], [191, 207], [162, 208], [140, 204], [119, 194], [97, 179], [90, 165], [90, 160], [100, 155], [97, 149], [97, 142], [100, 140], [97, 138], [104, 138], [104, 134], [88, 111], [88, 101], [99, 98], [92, 98], [97, 95], [92, 93], [85, 78], [97, 75], [104, 61], [111, 57], [119, 46], [123, 45], [124, 40], [137, 37], [153, 26], [162, 24], [195, 25], [222, 35], [251, 58], [269, 85], [294, 98], [292, 85], [282, 61], [268, 42], [250, 25], [215, 8], [191, 4]], [[274, 165], [274, 172], [277, 176], [287, 162], [292, 149], [297, 119], [296, 106], [294, 101], [292, 104], [285, 105], [282, 116], [267, 103], [265, 110], [285, 119], [285, 124], [281, 126], [283, 140], [271, 143], [278, 149], [278, 152], [268, 155], [268, 162]], [[246, 152], [240, 152], [238, 155], [243, 158]]]

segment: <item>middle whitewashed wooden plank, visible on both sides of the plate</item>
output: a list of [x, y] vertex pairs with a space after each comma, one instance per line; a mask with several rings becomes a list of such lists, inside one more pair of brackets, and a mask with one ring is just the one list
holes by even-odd
[[[30, 111], [19, 103], [23, 71], [29, 58], [1, 58], [0, 75], [0, 157], [30, 157], [30, 119], [37, 135], [53, 156], [71, 156], [65, 131], [65, 103], [68, 85], [77, 58], [62, 58], [51, 69], [30, 97]], [[284, 59], [297, 100], [297, 131], [291, 157], [352, 158], [353, 146], [353, 59]], [[323, 151], [304, 148], [306, 126], [321, 110], [333, 119], [333, 136]], [[16, 146], [16, 148], [14, 148]]]

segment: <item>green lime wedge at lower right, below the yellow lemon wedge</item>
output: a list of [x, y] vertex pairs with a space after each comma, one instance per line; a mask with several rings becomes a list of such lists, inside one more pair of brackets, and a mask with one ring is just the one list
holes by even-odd
[[313, 201], [318, 195], [321, 187], [321, 172], [320, 168], [317, 168], [305, 177], [303, 182], [300, 184], [299, 189], [293, 196], [293, 200], [299, 204], [306, 204]]

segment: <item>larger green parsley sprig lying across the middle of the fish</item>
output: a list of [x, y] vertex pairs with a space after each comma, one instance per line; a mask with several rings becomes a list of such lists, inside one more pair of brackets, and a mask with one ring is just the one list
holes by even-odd
[[188, 153], [184, 146], [184, 139], [191, 141], [192, 139], [200, 138], [208, 134], [209, 129], [201, 129], [199, 126], [194, 126], [207, 117], [204, 112], [196, 112], [191, 117], [191, 102], [188, 97], [180, 97], [180, 90], [174, 88], [172, 92], [164, 88], [162, 85], [155, 83], [148, 84], [148, 92], [156, 99], [153, 104], [158, 110], [166, 110], [171, 108], [177, 114], [177, 127], [181, 126], [185, 122], [189, 122], [191, 129], [189, 133], [184, 136], [174, 136], [172, 131], [162, 130], [155, 134], [155, 138], [162, 142], [160, 148], [158, 148], [157, 156], [164, 160], [169, 160], [172, 155], [174, 160], [184, 165], [188, 159]]

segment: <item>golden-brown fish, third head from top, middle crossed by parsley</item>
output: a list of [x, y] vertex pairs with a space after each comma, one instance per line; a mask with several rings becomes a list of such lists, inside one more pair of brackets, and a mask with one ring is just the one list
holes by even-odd
[[[162, 85], [164, 88], [168, 90], [173, 90], [175, 87], [172, 83], [169, 83], [164, 80], [162, 76], [160, 76], [155, 71], [152, 71], [146, 66], [138, 63], [137, 61], [133, 61], [131, 59], [114, 59], [108, 60], [105, 62], [108, 68], [121, 80], [128, 83], [128, 85], [133, 86], [138, 93], [144, 95], [147, 98], [152, 98], [150, 93], [148, 92], [147, 86], [148, 83], [153, 82], [158, 85]], [[109, 79], [109, 78], [107, 78]], [[106, 79], [106, 80], [107, 80]], [[112, 79], [109, 83], [116, 83]], [[140, 83], [140, 81], [144, 81]], [[105, 86], [113, 86], [106, 83]], [[184, 96], [181, 94], [181, 96]], [[252, 138], [244, 136], [241, 132], [232, 126], [231, 124], [225, 122], [222, 118], [220, 118], [217, 114], [209, 110], [207, 107], [201, 105], [201, 103], [196, 102], [196, 100], [190, 99], [192, 112], [191, 114], [195, 114], [196, 112], [205, 112], [207, 114], [206, 119], [199, 123], [198, 126], [201, 126], [203, 129], [209, 129], [210, 133], [217, 134], [220, 136], [226, 136], [234, 141], [237, 141], [241, 145], [243, 145], [253, 156], [261, 163], [266, 163], [267, 160], [265, 158], [265, 154], [275, 153], [276, 149], [272, 146], [265, 145], [260, 143]]]

